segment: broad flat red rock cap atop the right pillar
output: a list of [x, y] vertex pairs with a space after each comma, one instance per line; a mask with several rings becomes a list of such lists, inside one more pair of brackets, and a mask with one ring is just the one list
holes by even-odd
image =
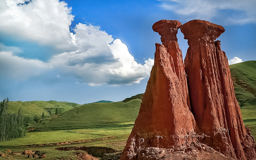
[[184, 34], [184, 39], [188, 39], [188, 41], [199, 38], [214, 41], [225, 31], [222, 26], [206, 20], [188, 21], [180, 27], [180, 30]]

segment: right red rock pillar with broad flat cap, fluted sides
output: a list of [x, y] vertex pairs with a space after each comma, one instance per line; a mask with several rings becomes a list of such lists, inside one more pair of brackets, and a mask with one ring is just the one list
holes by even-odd
[[228, 59], [220, 49], [220, 41], [214, 41], [224, 28], [192, 20], [180, 29], [188, 39], [184, 63], [197, 132], [205, 134], [201, 142], [228, 157], [256, 158], [254, 139], [244, 127], [236, 101]]

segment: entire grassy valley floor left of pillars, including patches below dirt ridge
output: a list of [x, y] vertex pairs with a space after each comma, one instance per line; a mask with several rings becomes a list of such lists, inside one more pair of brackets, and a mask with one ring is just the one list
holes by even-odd
[[[121, 151], [124, 149], [126, 140], [128, 139], [131, 131], [131, 125], [113, 126], [113, 127], [97, 127], [90, 129], [79, 129], [79, 130], [66, 130], [66, 131], [50, 131], [50, 132], [29, 132], [23, 138], [18, 138], [15, 140], [0, 142], [0, 152], [6, 154], [6, 157], [1, 157], [2, 159], [26, 159], [27, 156], [23, 155], [8, 155], [7, 149], [10, 149], [13, 153], [21, 153], [24, 150], [32, 150], [33, 152], [39, 150], [46, 154], [46, 160], [70, 160], [77, 159], [77, 153], [83, 153], [84, 151], [60, 151], [56, 150], [56, 147], [65, 146], [94, 146], [94, 147], [104, 147], [113, 148], [116, 151]], [[111, 138], [106, 138], [111, 137]], [[113, 138], [114, 137], [114, 138]], [[101, 138], [101, 139], [99, 139]], [[102, 139], [104, 138], [104, 139]], [[70, 142], [76, 140], [88, 140], [81, 143], [71, 143], [63, 145], [53, 145], [52, 143], [60, 142]], [[49, 144], [51, 143], [51, 144]], [[44, 145], [34, 145], [34, 144], [44, 144]], [[61, 144], [61, 143], [60, 143]], [[27, 145], [27, 146], [25, 146]]]

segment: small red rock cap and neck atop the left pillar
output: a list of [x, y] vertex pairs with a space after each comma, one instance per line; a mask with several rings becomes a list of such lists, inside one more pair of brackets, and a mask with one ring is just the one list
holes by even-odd
[[178, 20], [159, 20], [153, 24], [152, 29], [161, 36], [161, 41], [178, 41], [177, 33], [181, 23]]

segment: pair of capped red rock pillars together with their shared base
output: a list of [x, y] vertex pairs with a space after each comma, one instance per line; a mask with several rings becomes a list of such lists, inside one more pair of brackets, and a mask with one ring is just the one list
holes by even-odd
[[[204, 20], [182, 26], [177, 20], [160, 20], [152, 28], [163, 45], [156, 44], [155, 64], [120, 160], [256, 158], [228, 59], [215, 41], [224, 28]], [[179, 28], [189, 45], [185, 66]]]

